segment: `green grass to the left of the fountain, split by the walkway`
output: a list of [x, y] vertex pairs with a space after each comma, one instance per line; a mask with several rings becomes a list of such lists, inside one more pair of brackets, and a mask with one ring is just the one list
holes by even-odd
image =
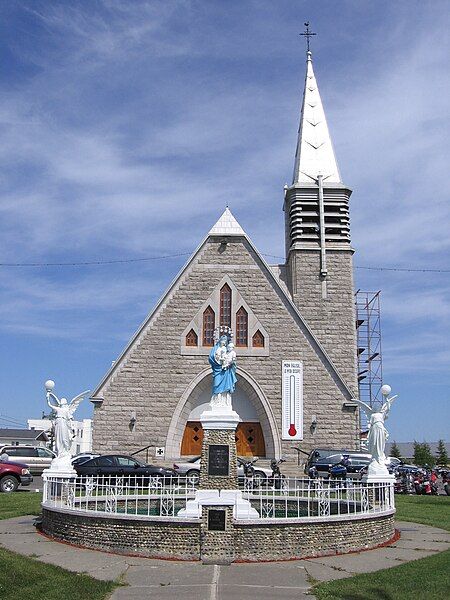
[[[0, 494], [0, 519], [41, 512], [42, 494]], [[104, 600], [117, 584], [71, 573], [0, 547], [2, 600]]]

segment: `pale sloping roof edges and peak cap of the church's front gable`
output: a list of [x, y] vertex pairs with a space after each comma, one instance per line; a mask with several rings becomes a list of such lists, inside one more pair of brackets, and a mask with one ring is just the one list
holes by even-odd
[[[224, 233], [222, 224], [224, 224], [223, 225], [224, 228], [226, 228], [227, 224], [229, 224], [229, 228], [232, 230], [232, 233]], [[353, 399], [353, 394], [352, 394], [351, 390], [348, 388], [347, 384], [345, 383], [345, 380], [339, 373], [338, 369], [334, 366], [331, 358], [328, 356], [328, 354], [326, 353], [323, 346], [317, 340], [317, 338], [315, 337], [315, 335], [313, 334], [313, 332], [307, 325], [306, 321], [303, 319], [302, 315], [300, 314], [297, 306], [292, 301], [288, 292], [286, 291], [286, 289], [284, 289], [280, 285], [280, 283], [279, 283], [276, 275], [274, 274], [273, 270], [271, 269], [271, 267], [266, 263], [264, 258], [258, 252], [258, 250], [254, 246], [251, 239], [248, 237], [248, 235], [245, 233], [245, 231], [242, 229], [242, 227], [236, 221], [234, 216], [231, 214], [231, 211], [228, 208], [226, 208], [224, 213], [220, 217], [220, 219], [211, 228], [208, 235], [205, 237], [205, 239], [202, 241], [202, 243], [198, 246], [198, 248], [195, 250], [195, 252], [189, 258], [189, 260], [184, 265], [184, 267], [181, 269], [181, 271], [178, 273], [178, 275], [175, 277], [175, 279], [172, 281], [169, 288], [166, 290], [164, 295], [161, 297], [161, 299], [159, 300], [159, 302], [157, 303], [155, 308], [149, 313], [149, 315], [146, 317], [146, 319], [144, 320], [142, 325], [139, 327], [139, 329], [133, 335], [133, 337], [131, 338], [130, 342], [128, 343], [128, 345], [126, 346], [126, 348], [124, 349], [122, 354], [118, 357], [118, 359], [116, 361], [113, 362], [113, 364], [111, 365], [111, 367], [108, 370], [108, 372], [106, 373], [106, 375], [103, 377], [101, 382], [95, 388], [95, 390], [91, 396], [91, 400], [94, 403], [96, 401], [102, 400], [102, 397], [98, 395], [100, 393], [101, 389], [108, 382], [109, 378], [115, 373], [115, 371], [117, 371], [117, 369], [123, 363], [123, 360], [126, 358], [126, 355], [132, 350], [134, 345], [139, 343], [139, 339], [140, 339], [141, 335], [145, 332], [147, 327], [156, 318], [160, 308], [175, 293], [177, 286], [180, 284], [182, 278], [188, 271], [189, 267], [196, 260], [197, 256], [203, 249], [203, 247], [206, 244], [206, 242], [208, 241], [208, 239], [210, 237], [225, 236], [225, 235], [233, 235], [233, 236], [241, 237], [246, 240], [246, 242], [250, 246], [251, 250], [255, 253], [261, 270], [265, 273], [267, 279], [272, 283], [274, 290], [276, 291], [276, 293], [282, 300], [283, 304], [285, 305], [287, 310], [290, 312], [290, 314], [294, 318], [294, 320], [297, 322], [297, 325], [300, 327], [301, 331], [304, 333], [305, 337], [308, 339], [310, 345], [315, 349], [317, 355], [321, 358], [322, 362], [328, 366], [328, 371], [331, 374], [336, 385], [340, 388], [341, 392], [347, 398], [347, 400]]]

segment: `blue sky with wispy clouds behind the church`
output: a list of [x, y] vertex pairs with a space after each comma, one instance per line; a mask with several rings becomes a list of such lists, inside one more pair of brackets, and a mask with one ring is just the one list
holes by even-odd
[[[450, 270], [447, 2], [10, 0], [0, 15], [0, 262], [190, 253], [227, 203], [282, 256], [309, 19], [355, 265]], [[49, 377], [93, 389], [186, 258], [0, 267], [0, 425], [40, 416]], [[391, 439], [448, 439], [450, 273], [355, 276], [382, 290]]]

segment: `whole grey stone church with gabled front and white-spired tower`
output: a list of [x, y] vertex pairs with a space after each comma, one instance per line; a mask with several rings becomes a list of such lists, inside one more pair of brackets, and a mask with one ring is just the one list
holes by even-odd
[[94, 391], [94, 451], [199, 455], [220, 326], [237, 353], [238, 455], [295, 465], [298, 448], [359, 447], [350, 194], [308, 52], [286, 262], [267, 264], [227, 208]]

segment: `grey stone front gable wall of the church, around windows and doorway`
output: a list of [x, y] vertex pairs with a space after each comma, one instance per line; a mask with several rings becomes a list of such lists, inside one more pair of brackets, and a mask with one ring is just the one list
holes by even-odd
[[[301, 330], [292, 308], [262, 270], [248, 242], [243, 238], [230, 238], [224, 249], [219, 241], [209, 238], [159, 312], [99, 390], [104, 401], [94, 413], [95, 451], [132, 452], [150, 444], [166, 444], [180, 399], [195, 376], [208, 368], [205, 356], [181, 356], [181, 332], [225, 275], [232, 279], [270, 336], [269, 356], [239, 357], [237, 350], [238, 366], [251, 374], [270, 403], [276, 423], [275, 437], [279, 439], [281, 435], [281, 361], [298, 359], [304, 364], [302, 448], [356, 447], [357, 421], [354, 413], [343, 410], [343, 402], [348, 399], [345, 390], [317, 348], [311, 345], [307, 332]], [[350, 305], [353, 306], [353, 300]], [[311, 309], [309, 316], [313, 313]], [[326, 341], [328, 324], [324, 322], [316, 329], [317, 335]], [[336, 331], [330, 330], [335, 336], [333, 339], [339, 338], [339, 331], [338, 325]], [[352, 339], [348, 335], [345, 343], [353, 343]], [[339, 349], [344, 349], [344, 342], [339, 343]], [[334, 351], [334, 355], [339, 358], [339, 350]], [[348, 359], [345, 364], [343, 369], [351, 374]], [[257, 409], [258, 414], [261, 413], [261, 407]], [[129, 426], [131, 411], [136, 412], [136, 425], [132, 430]], [[180, 437], [188, 414], [189, 406], [186, 406], [176, 425]], [[317, 416], [314, 432], [309, 429], [313, 415]], [[297, 445], [298, 442], [281, 443], [281, 451], [291, 465], [297, 461], [294, 450]]]

